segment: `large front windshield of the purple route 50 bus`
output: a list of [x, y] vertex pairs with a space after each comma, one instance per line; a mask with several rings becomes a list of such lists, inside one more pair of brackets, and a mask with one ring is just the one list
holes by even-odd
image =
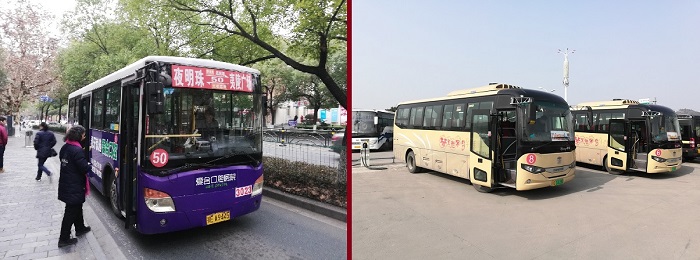
[[[260, 94], [168, 87], [163, 92], [164, 113], [149, 114], [145, 126], [144, 159], [155, 170], [186, 163], [257, 164], [262, 159]], [[158, 149], [167, 152], [167, 165], [149, 160]]]

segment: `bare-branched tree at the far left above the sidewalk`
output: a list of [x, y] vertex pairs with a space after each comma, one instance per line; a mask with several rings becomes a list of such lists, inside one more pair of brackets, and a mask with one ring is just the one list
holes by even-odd
[[0, 38], [5, 49], [6, 86], [0, 98], [6, 112], [16, 115], [22, 101], [46, 93], [58, 81], [54, 59], [58, 41], [45, 30], [51, 15], [32, 3], [22, 1], [15, 9], [0, 13]]

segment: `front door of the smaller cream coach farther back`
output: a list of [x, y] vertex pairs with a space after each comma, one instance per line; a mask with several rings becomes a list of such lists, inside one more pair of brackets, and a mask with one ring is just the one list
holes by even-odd
[[606, 162], [609, 169], [627, 171], [630, 156], [632, 156], [632, 139], [630, 124], [627, 120], [610, 119]]

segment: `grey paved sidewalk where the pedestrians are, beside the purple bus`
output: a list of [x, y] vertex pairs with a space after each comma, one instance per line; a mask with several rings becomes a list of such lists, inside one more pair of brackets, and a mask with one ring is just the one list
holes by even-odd
[[[76, 245], [58, 248], [65, 210], [58, 200], [58, 157], [44, 164], [53, 177], [43, 175], [40, 182], [35, 181], [38, 161], [34, 148], [25, 147], [25, 131], [9, 138], [5, 172], [0, 173], [0, 258], [126, 259], [88, 203], [83, 204], [83, 213], [92, 231], [78, 237]], [[63, 142], [60, 135], [56, 139], [59, 151]], [[99, 196], [95, 192], [90, 196]]]

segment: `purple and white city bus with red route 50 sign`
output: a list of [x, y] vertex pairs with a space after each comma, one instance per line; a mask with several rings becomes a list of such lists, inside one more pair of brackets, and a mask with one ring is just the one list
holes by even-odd
[[90, 182], [144, 234], [200, 227], [257, 210], [266, 97], [258, 70], [149, 56], [69, 96], [88, 130]]

